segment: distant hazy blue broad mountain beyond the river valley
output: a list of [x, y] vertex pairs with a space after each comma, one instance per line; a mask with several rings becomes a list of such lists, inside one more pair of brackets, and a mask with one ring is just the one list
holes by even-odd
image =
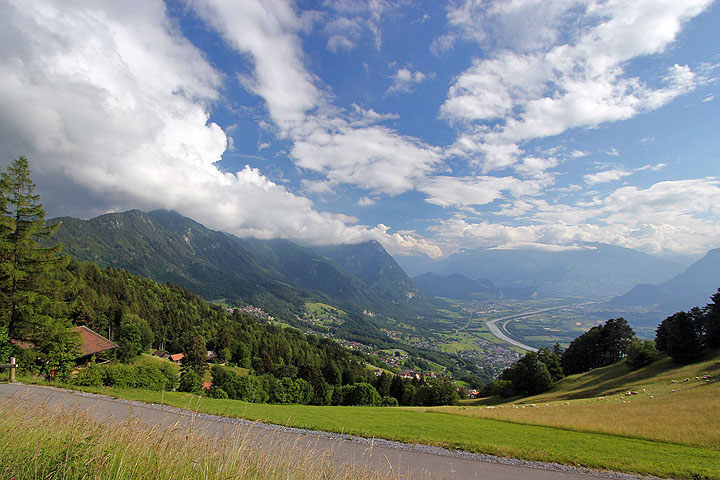
[[487, 279], [501, 289], [522, 287], [542, 296], [584, 298], [618, 295], [638, 283], [669, 279], [683, 269], [675, 262], [599, 243], [564, 251], [480, 248], [430, 263], [400, 261], [410, 271], [424, 268], [440, 275]]

